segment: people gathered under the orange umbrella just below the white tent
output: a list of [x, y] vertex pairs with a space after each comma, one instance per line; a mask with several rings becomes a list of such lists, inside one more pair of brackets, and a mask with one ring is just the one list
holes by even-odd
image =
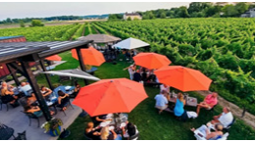
[[137, 69], [135, 64], [132, 64], [128, 68], [124, 69], [124, 71], [126, 70], [128, 70], [130, 80], [134, 80], [136, 82], [159, 82], [156, 75], [154, 74], [154, 70], [148, 70], [142, 67]]

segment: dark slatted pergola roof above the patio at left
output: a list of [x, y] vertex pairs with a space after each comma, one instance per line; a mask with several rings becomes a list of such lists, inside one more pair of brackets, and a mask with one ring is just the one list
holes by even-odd
[[88, 41], [5, 42], [0, 43], [0, 63], [17, 60], [30, 54], [45, 58], [76, 47], [92, 43]]

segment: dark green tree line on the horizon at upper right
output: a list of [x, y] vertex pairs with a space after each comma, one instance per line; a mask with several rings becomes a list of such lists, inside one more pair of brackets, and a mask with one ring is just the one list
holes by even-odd
[[[142, 16], [142, 20], [166, 19], [166, 18], [230, 18], [240, 17], [251, 8], [254, 8], [254, 3], [238, 2], [235, 5], [225, 2], [192, 2], [189, 7], [181, 6], [179, 8], [158, 9], [146, 12], [137, 12]], [[109, 16], [109, 20], [121, 20], [123, 16], [114, 14]]]

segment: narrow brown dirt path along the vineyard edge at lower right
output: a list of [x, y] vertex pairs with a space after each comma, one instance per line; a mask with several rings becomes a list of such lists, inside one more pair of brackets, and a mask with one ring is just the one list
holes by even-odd
[[[199, 94], [206, 96], [210, 93], [210, 91], [197, 91]], [[253, 128], [255, 128], [255, 116], [249, 114], [249, 113], [245, 113], [244, 117], [241, 118], [241, 114], [242, 114], [242, 109], [240, 109], [238, 106], [230, 103], [229, 101], [225, 100], [223, 97], [218, 96], [218, 100], [219, 100], [219, 105], [221, 105], [222, 107], [230, 107], [230, 110], [232, 112], [232, 115], [242, 119], [245, 123], [247, 123], [248, 125], [252, 126]]]

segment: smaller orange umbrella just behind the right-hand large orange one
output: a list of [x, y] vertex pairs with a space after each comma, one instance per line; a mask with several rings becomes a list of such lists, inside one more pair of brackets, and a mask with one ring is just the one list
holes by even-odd
[[166, 56], [156, 53], [139, 53], [133, 60], [136, 65], [150, 70], [160, 69], [172, 63]]

